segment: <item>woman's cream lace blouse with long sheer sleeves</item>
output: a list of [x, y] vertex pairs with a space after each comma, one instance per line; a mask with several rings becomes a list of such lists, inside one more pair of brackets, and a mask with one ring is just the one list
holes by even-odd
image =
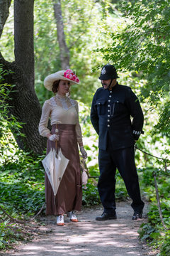
[[67, 96], [55, 95], [46, 100], [42, 107], [42, 115], [39, 124], [40, 135], [46, 137], [50, 134], [47, 129], [48, 120], [52, 124], [76, 124], [77, 142], [82, 143], [81, 127], [79, 124], [79, 107], [76, 100]]

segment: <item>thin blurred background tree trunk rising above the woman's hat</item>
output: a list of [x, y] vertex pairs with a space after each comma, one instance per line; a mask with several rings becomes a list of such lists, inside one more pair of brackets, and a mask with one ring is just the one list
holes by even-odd
[[67, 70], [67, 68], [69, 68], [69, 49], [67, 48], [67, 44], [65, 41], [61, 1], [53, 0], [53, 3], [55, 10], [55, 19], [57, 23], [57, 40], [60, 46], [60, 60], [62, 70]]

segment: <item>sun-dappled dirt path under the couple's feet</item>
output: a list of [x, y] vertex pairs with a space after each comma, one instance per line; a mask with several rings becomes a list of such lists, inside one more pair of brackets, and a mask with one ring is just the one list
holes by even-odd
[[[10, 256], [146, 256], [157, 255], [142, 245], [137, 230], [146, 221], [147, 207], [142, 220], [132, 220], [130, 203], [117, 203], [117, 220], [96, 221], [102, 208], [85, 209], [77, 213], [79, 223], [65, 217], [64, 227], [56, 225], [54, 216], [42, 219], [45, 226], [34, 240], [19, 246], [15, 251], [0, 253]], [[43, 231], [43, 232], [42, 232]]]

